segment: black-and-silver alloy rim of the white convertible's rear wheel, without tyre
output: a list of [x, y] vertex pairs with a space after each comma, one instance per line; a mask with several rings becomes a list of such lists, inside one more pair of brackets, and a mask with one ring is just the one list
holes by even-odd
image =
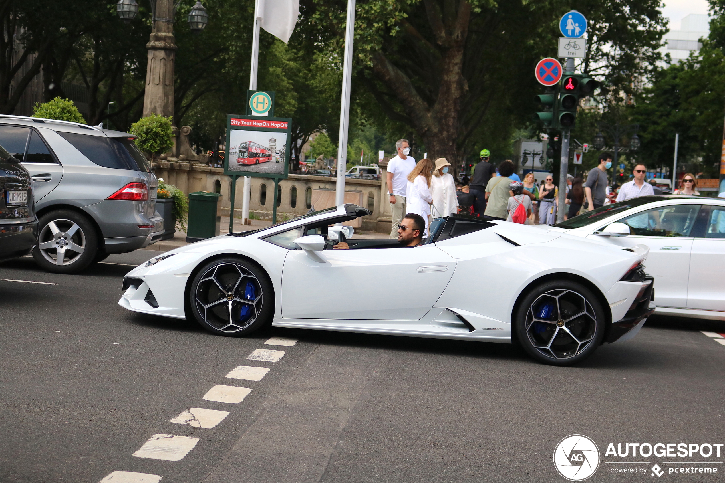
[[587, 298], [573, 290], [550, 290], [526, 312], [526, 336], [544, 356], [572, 358], [595, 337], [597, 316]]

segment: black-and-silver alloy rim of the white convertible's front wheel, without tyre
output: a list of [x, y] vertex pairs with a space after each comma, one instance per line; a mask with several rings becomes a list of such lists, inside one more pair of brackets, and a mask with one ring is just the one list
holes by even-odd
[[212, 266], [196, 286], [194, 301], [204, 322], [220, 332], [249, 327], [262, 310], [262, 285], [244, 266]]

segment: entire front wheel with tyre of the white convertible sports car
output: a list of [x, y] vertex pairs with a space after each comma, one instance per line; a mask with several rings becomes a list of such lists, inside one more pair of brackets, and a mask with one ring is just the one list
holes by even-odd
[[237, 257], [212, 260], [191, 282], [189, 305], [196, 322], [212, 334], [249, 335], [272, 322], [272, 282], [250, 261]]

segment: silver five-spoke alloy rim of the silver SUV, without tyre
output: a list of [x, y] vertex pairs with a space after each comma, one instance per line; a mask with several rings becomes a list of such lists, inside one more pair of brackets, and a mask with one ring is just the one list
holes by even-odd
[[70, 265], [86, 250], [86, 234], [70, 219], [54, 219], [38, 235], [38, 249], [51, 264]]

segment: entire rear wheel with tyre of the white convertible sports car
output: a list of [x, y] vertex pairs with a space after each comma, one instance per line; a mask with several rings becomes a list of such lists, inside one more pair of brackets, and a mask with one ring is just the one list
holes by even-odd
[[602, 343], [605, 314], [592, 290], [568, 280], [544, 282], [529, 290], [515, 314], [524, 350], [554, 366], [576, 364]]

